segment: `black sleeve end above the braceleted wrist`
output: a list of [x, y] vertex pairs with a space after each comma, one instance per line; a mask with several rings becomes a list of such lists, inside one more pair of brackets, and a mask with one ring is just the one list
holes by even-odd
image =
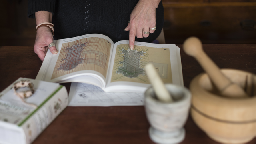
[[28, 0], [28, 18], [36, 18], [35, 12], [48, 11], [54, 14], [56, 0]]

